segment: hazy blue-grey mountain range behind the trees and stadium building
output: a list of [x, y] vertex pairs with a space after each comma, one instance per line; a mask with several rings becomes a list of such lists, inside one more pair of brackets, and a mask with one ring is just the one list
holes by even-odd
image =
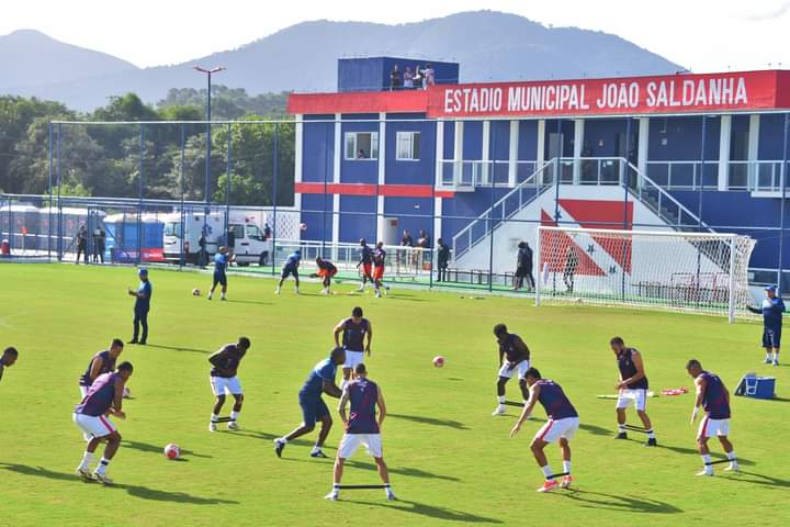
[[[169, 88], [202, 88], [205, 78], [191, 70], [194, 64], [227, 67], [215, 77], [216, 82], [245, 88], [249, 93], [335, 90], [337, 59], [350, 56], [456, 60], [461, 63], [464, 82], [668, 74], [679, 69], [678, 65], [616, 35], [546, 27], [523, 16], [492, 11], [399, 25], [304, 22], [238, 49], [145, 69], [57, 41], [42, 41], [47, 37], [41, 34], [31, 44], [5, 42], [12, 37], [20, 40], [19, 33], [30, 32], [0, 37], [0, 57], [14, 55], [14, 61], [24, 61], [26, 66], [13, 68], [0, 83], [0, 92], [35, 94], [80, 110], [102, 105], [108, 97], [127, 91], [155, 102]], [[70, 53], [92, 55], [69, 58], [66, 51], [47, 48], [42, 42]], [[42, 66], [53, 61], [47, 55], [61, 57], [57, 75], [48, 70], [49, 66]], [[27, 58], [19, 58], [23, 56]], [[78, 65], [79, 74], [71, 71], [70, 67]]]

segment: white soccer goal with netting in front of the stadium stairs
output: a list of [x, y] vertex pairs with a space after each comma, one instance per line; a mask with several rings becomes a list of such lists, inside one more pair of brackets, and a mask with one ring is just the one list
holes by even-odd
[[535, 303], [596, 302], [745, 315], [748, 236], [667, 231], [538, 228]]

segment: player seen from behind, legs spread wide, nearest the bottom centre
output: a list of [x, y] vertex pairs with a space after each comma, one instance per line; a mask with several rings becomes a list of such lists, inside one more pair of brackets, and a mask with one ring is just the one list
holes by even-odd
[[[384, 462], [382, 452], [381, 427], [386, 416], [386, 405], [381, 386], [368, 379], [368, 369], [360, 362], [354, 368], [357, 380], [352, 381], [340, 397], [338, 412], [346, 428], [338, 447], [335, 459], [335, 484], [332, 491], [326, 495], [327, 500], [336, 501], [340, 495], [340, 481], [342, 480], [343, 466], [346, 460], [353, 456], [360, 445], [363, 445], [379, 469], [379, 475], [384, 483], [384, 491], [387, 500], [395, 500], [390, 486], [390, 473]], [[346, 406], [351, 404], [351, 414], [346, 416]], [[376, 419], [376, 408], [379, 417]]]

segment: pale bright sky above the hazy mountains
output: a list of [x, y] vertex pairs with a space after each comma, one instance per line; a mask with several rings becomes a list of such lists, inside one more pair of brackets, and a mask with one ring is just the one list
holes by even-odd
[[236, 48], [307, 20], [397, 24], [481, 9], [613, 33], [698, 72], [790, 68], [790, 1], [776, 0], [7, 0], [0, 35], [34, 29], [147, 67]]

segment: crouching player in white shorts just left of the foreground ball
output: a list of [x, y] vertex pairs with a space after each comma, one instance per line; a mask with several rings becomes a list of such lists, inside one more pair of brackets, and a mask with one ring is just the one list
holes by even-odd
[[[95, 480], [105, 485], [112, 484], [112, 480], [106, 475], [106, 469], [121, 445], [121, 434], [109, 416], [126, 418], [126, 414], [122, 410], [123, 389], [128, 378], [132, 377], [132, 371], [134, 368], [131, 362], [121, 362], [114, 372], [99, 375], [82, 402], [75, 407], [74, 422], [84, 434], [91, 436], [82, 456], [82, 462], [77, 467], [77, 474], [86, 481]], [[91, 474], [90, 463], [93, 461], [93, 452], [104, 439], [108, 442], [104, 456]]]

